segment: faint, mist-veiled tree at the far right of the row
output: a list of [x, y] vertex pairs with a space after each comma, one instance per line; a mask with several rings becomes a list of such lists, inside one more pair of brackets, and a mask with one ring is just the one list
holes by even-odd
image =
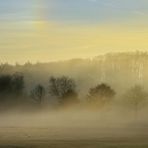
[[145, 105], [146, 99], [148, 99], [148, 93], [144, 91], [142, 86], [135, 85], [125, 93], [124, 99], [126, 99], [127, 105], [134, 109], [137, 118], [138, 111]]

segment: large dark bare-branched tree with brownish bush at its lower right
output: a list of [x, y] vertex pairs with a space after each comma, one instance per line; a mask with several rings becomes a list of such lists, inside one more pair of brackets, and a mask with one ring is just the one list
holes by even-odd
[[62, 104], [78, 101], [74, 80], [65, 76], [60, 78], [50, 78], [49, 93], [51, 96], [57, 97]]

